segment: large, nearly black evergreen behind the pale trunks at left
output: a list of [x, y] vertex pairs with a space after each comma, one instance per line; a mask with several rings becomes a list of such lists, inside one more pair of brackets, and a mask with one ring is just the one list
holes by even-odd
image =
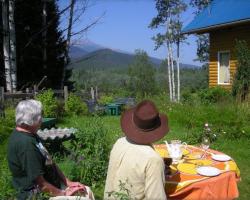
[[[64, 68], [65, 42], [59, 31], [56, 1], [47, 1], [47, 25], [42, 27], [42, 0], [16, 0], [15, 22], [17, 43], [18, 88], [37, 84], [47, 76], [43, 87], [59, 88]], [[44, 41], [47, 30], [47, 62], [43, 63]], [[44, 67], [45, 66], [45, 67]]]

